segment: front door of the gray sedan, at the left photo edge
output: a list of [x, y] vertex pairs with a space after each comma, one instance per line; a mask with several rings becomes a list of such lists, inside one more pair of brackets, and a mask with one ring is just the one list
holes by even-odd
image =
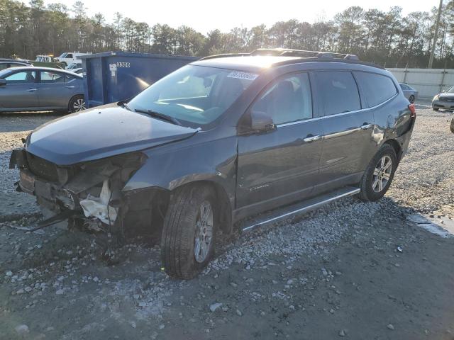
[[0, 106], [3, 109], [38, 108], [37, 72], [31, 70], [16, 71], [6, 75], [6, 85], [0, 86]]

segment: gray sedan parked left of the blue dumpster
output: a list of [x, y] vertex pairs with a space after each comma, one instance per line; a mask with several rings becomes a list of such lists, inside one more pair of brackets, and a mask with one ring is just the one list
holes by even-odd
[[82, 76], [49, 67], [12, 67], [0, 71], [0, 112], [81, 111]]

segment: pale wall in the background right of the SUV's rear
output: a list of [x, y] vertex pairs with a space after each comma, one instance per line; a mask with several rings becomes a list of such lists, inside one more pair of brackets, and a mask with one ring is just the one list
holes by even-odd
[[433, 98], [454, 85], [454, 69], [387, 69], [399, 83], [418, 90], [419, 98]]

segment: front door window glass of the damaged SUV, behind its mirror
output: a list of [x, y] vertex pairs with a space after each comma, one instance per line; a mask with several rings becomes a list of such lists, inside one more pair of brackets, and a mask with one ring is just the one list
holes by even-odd
[[253, 111], [266, 113], [276, 125], [312, 118], [308, 74], [292, 74], [274, 81], [255, 102]]

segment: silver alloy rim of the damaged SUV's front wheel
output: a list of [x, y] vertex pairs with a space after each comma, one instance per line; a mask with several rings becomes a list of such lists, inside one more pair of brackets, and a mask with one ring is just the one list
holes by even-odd
[[213, 209], [211, 203], [204, 200], [199, 207], [196, 229], [194, 234], [194, 257], [202, 263], [208, 256], [211, 240], [213, 239]]

